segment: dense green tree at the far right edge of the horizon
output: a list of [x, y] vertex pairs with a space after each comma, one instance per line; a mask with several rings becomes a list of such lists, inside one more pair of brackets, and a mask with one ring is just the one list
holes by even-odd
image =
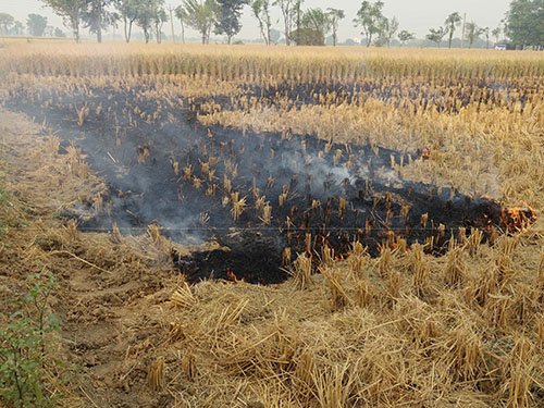
[[506, 32], [515, 46], [542, 46], [544, 0], [514, 0], [506, 13]]

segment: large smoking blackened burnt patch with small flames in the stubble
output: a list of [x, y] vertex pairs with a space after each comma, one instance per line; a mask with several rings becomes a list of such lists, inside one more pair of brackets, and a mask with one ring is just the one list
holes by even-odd
[[460, 227], [468, 234], [480, 228], [486, 238], [492, 228], [512, 232], [533, 217], [403, 180], [399, 166], [424, 160], [424, 150], [205, 127], [196, 121], [198, 103], [184, 107], [149, 90], [86, 88], [60, 96], [45, 89], [33, 104], [26, 92], [8, 104], [47, 120], [65, 140], [63, 148], [75, 143], [108, 182], [100, 210], [89, 200], [72, 214], [82, 230], [118, 225], [141, 233], [156, 223], [176, 242], [214, 239], [227, 248], [190, 258], [172, 254], [190, 282], [279, 283], [287, 277], [281, 268], [286, 248], [292, 260], [299, 252], [320, 254], [325, 245], [346, 256], [355, 240], [372, 256], [400, 239], [440, 255]]

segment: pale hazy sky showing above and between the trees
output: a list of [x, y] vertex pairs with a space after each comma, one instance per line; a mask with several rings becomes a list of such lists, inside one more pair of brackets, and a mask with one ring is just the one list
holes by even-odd
[[[494, 28], [498, 25], [508, 9], [510, 0], [384, 0], [384, 14], [387, 17], [396, 16], [400, 22], [400, 29], [408, 29], [416, 33], [418, 37], [423, 37], [429, 27], [437, 27], [444, 23], [446, 16], [458, 11], [467, 13], [467, 21], [475, 21], [482, 27]], [[166, 3], [177, 5], [181, 0], [166, 0]], [[334, 7], [343, 9], [346, 12], [346, 18], [341, 22], [338, 36], [341, 41], [346, 38], [360, 38], [360, 29], [354, 27], [353, 18], [356, 16], [357, 10], [360, 8], [361, 1], [351, 0], [306, 0], [305, 8], [320, 7], [326, 9]], [[28, 13], [38, 13], [46, 15], [49, 18], [49, 24], [58, 27], [63, 27], [62, 20], [55, 16], [49, 9], [45, 8], [38, 0], [0, 0], [0, 12], [12, 14], [16, 20], [26, 24], [26, 15]], [[283, 32], [282, 21], [277, 8], [273, 8], [274, 28]], [[280, 20], [276, 23], [276, 20]], [[176, 22], [178, 23], [178, 22]], [[259, 37], [259, 28], [257, 22], [250, 14], [247, 7], [243, 18], [243, 28], [238, 38], [257, 38]], [[63, 28], [64, 29], [64, 28]], [[64, 29], [65, 30], [65, 29]], [[119, 28], [119, 32], [121, 27]], [[175, 25], [175, 30], [180, 33], [180, 25]], [[170, 35], [170, 23], [164, 26], [164, 32]], [[186, 36], [198, 37], [198, 34], [187, 29]]]

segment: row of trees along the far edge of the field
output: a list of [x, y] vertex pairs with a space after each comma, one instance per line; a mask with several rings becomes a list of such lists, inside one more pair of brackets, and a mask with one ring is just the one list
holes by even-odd
[[[164, 0], [41, 0], [52, 11], [63, 18], [76, 41], [79, 41], [81, 27], [88, 28], [96, 34], [98, 42], [102, 40], [102, 30], [118, 24], [123, 25], [126, 42], [131, 41], [134, 26], [141, 28], [146, 42], [154, 37], [157, 42], [162, 40], [163, 25], [171, 20], [172, 32], [174, 18], [182, 29], [182, 40], [185, 40], [185, 28], [190, 27], [200, 33], [202, 44], [210, 41], [210, 35], [217, 34], [226, 37], [232, 42], [242, 29], [242, 13], [249, 7], [256, 18], [260, 36], [267, 45], [277, 42], [280, 32], [273, 28], [271, 11], [273, 8], [281, 13], [284, 41], [305, 46], [323, 46], [329, 38], [336, 46], [337, 30], [341, 21], [346, 17], [344, 10], [327, 8], [309, 8], [304, 10], [304, 0], [182, 0], [176, 8], [166, 8]], [[357, 15], [353, 20], [356, 27], [361, 29], [362, 44], [370, 46], [391, 46], [398, 41], [400, 46], [416, 38], [413, 33], [399, 29], [398, 20], [386, 17], [383, 13], [382, 0], [364, 0]], [[39, 15], [30, 14], [33, 22], [28, 22], [30, 34], [39, 33], [34, 27], [44, 25]], [[29, 20], [30, 20], [29, 15]], [[14, 22], [10, 15], [0, 13], [0, 29], [2, 34], [18, 33], [22, 23]], [[42, 17], [45, 18], [45, 17]], [[462, 28], [461, 28], [462, 23]], [[47, 26], [47, 18], [44, 29]], [[32, 27], [32, 28], [30, 28]], [[441, 47], [447, 41], [452, 48], [454, 35], [460, 29], [461, 45], [465, 42], [471, 48], [482, 36], [490, 47], [490, 39], [496, 42], [509, 39], [517, 47], [544, 45], [544, 0], [514, 0], [500, 25], [491, 29], [480, 27], [475, 22], [465, 22], [459, 12], [449, 14], [440, 27], [432, 27], [425, 38]], [[34, 35], [34, 34], [33, 34]], [[173, 34], [172, 34], [173, 35]]]

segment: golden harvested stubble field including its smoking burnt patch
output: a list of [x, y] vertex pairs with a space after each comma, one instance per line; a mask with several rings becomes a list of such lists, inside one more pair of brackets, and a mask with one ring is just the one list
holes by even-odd
[[0, 309], [59, 282], [60, 406], [544, 405], [542, 52], [13, 40], [0, 81]]

